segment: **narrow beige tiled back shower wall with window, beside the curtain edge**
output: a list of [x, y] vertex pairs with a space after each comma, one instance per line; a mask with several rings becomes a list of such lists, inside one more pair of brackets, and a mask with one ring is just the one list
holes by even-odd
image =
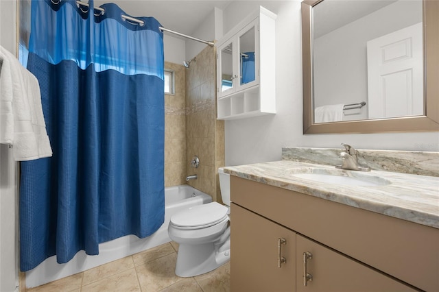
[[186, 69], [165, 62], [174, 71], [175, 95], [165, 95], [165, 186], [186, 184]]

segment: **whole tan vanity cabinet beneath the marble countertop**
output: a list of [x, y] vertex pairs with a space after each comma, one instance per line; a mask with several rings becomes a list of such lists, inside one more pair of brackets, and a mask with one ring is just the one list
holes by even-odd
[[[265, 281], [265, 286], [260, 283], [257, 287], [276, 291], [272, 287], [279, 280], [271, 280], [268, 271], [254, 268], [265, 265], [273, 273], [281, 270], [276, 265], [268, 267], [268, 258], [261, 261], [265, 252], [273, 251], [265, 244], [259, 246], [259, 242], [283, 236], [270, 234], [271, 226], [296, 234], [296, 258], [287, 259], [287, 264], [295, 260], [296, 273], [285, 276], [296, 285], [277, 291], [439, 291], [436, 228], [233, 175], [230, 190], [232, 292], [257, 291], [237, 284], [252, 281]], [[240, 209], [246, 212], [235, 211]], [[257, 249], [249, 250], [250, 244]], [[303, 285], [303, 252], [313, 254], [307, 264], [313, 281], [307, 287]]]

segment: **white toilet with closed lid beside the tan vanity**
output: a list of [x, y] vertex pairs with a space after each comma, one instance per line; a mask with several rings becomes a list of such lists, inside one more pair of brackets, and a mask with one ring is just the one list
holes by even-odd
[[230, 260], [230, 175], [218, 169], [222, 201], [193, 206], [172, 215], [169, 237], [179, 244], [176, 275], [193, 277]]

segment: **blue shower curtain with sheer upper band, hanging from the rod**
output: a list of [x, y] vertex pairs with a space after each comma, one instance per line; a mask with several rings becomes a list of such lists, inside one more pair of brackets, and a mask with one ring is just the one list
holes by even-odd
[[149, 236], [164, 221], [163, 33], [156, 19], [139, 25], [101, 7], [32, 1], [27, 69], [54, 156], [21, 163], [22, 271], [96, 255], [99, 243]]

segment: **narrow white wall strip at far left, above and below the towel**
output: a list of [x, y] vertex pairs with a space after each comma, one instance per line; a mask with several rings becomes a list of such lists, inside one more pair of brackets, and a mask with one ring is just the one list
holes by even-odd
[[[16, 1], [0, 1], [0, 45], [16, 54]], [[0, 291], [18, 287], [16, 162], [12, 149], [0, 145]]]

